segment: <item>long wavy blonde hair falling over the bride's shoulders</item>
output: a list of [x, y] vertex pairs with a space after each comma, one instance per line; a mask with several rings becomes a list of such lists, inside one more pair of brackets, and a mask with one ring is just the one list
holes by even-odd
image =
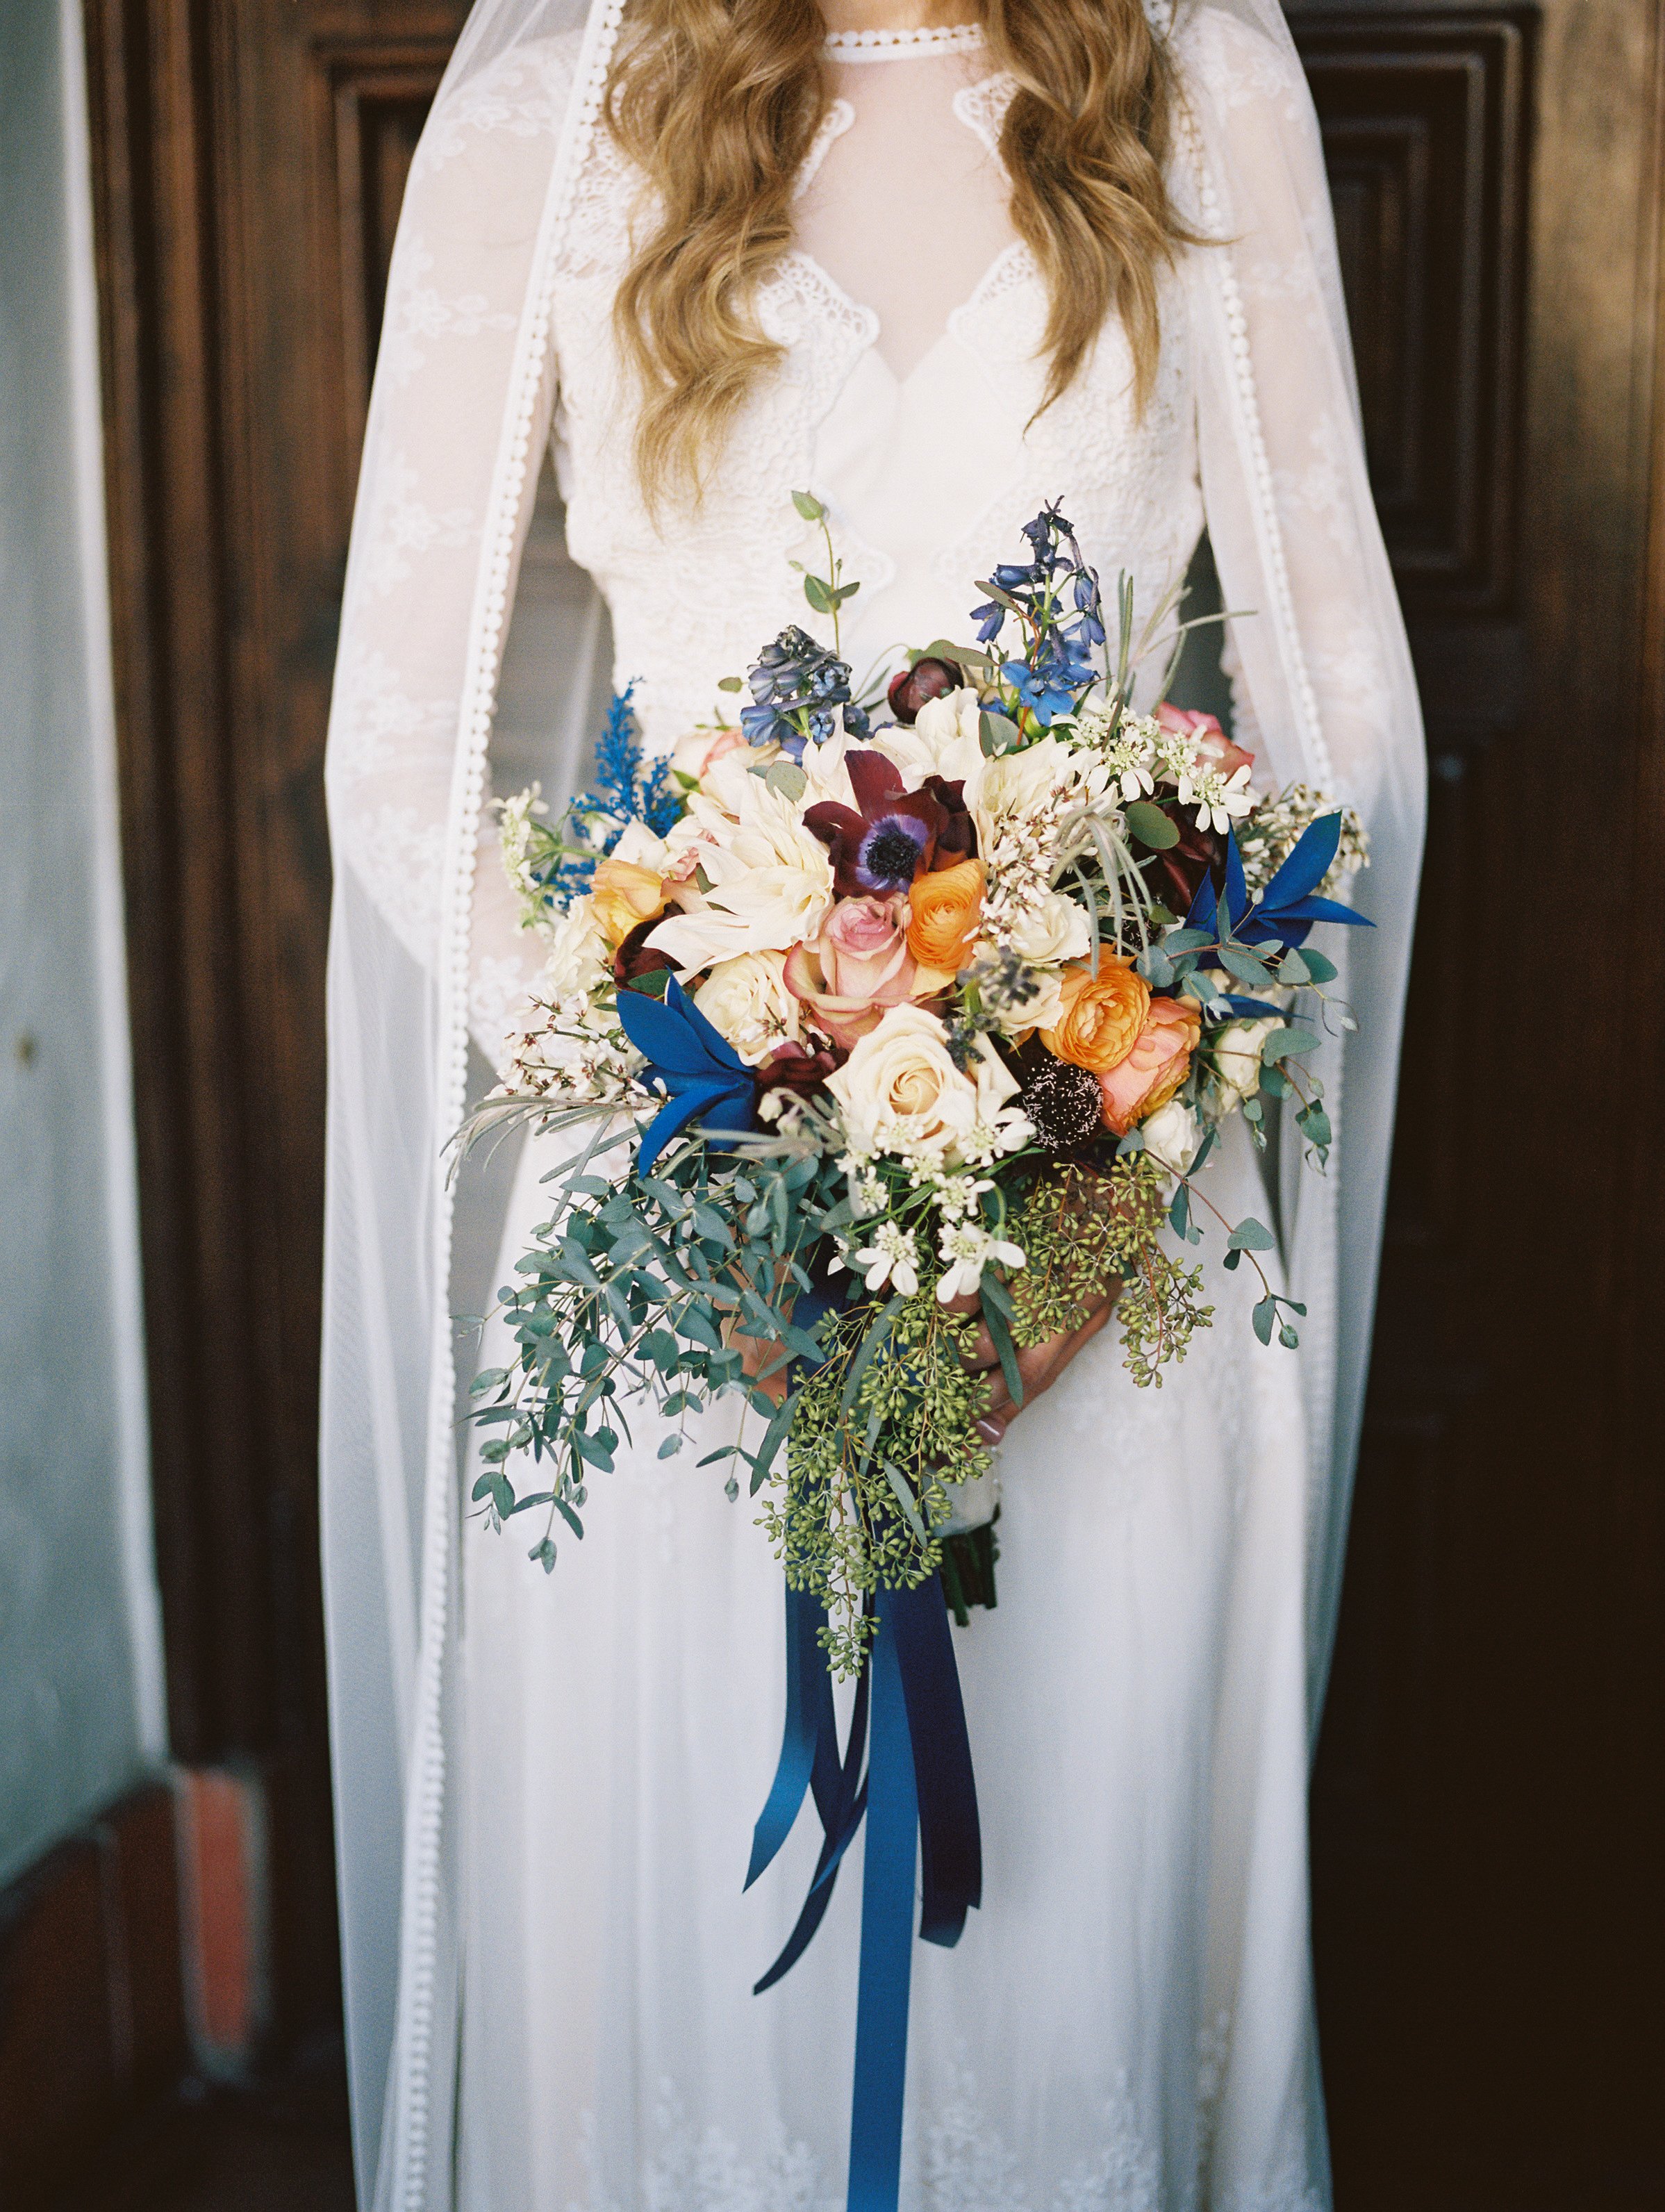
[[[984, 0], [988, 66], [1017, 80], [999, 153], [1010, 217], [1050, 296], [1041, 407], [1108, 314], [1143, 405], [1159, 274], [1190, 232], [1163, 181], [1170, 75], [1141, 0]], [[699, 493], [781, 347], [752, 292], [792, 243], [792, 188], [829, 104], [818, 0], [632, 0], [606, 119], [659, 210], [615, 303], [641, 378], [637, 469], [652, 502]]]

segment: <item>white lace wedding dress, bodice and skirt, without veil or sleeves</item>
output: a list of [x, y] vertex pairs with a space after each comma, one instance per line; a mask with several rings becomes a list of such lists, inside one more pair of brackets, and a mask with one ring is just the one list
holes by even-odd
[[[1112, 325], [1035, 416], [1046, 299], [1006, 217], [1006, 86], [964, 33], [842, 42], [834, 62], [798, 248], [761, 299], [785, 361], [699, 513], [655, 524], [635, 489], [610, 332], [632, 181], [604, 142], [559, 265], [568, 544], [657, 745], [803, 617], [794, 487], [829, 502], [862, 584], [858, 675], [964, 635], [973, 582], [1048, 498], [1145, 604], [1205, 522], [1185, 270], [1143, 414]], [[504, 1267], [542, 1219], [544, 1164], [522, 1168]], [[1247, 1146], [1207, 1175], [1234, 1219], [1267, 1212]], [[1002, 1453], [999, 1606], [955, 1632], [986, 1885], [955, 1951], [915, 1944], [909, 2212], [1327, 2203], [1309, 1447], [1298, 1363], [1256, 1345], [1243, 1279], [1210, 1287], [1216, 1325], [1161, 1391], [1130, 1385], [1106, 1334]], [[842, 2205], [860, 1847], [809, 1953], [754, 1997], [816, 1840], [805, 1816], [741, 1896], [781, 1732], [781, 1571], [745, 1500], [657, 1440], [637, 1429], [548, 1582], [513, 1533], [460, 1537], [467, 2212]]]

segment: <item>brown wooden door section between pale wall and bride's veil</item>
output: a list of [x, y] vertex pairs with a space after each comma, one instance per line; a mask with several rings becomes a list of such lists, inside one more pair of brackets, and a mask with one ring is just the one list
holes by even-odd
[[338, 2013], [316, 1509], [323, 730], [394, 223], [467, 0], [86, 0], [175, 1756]]

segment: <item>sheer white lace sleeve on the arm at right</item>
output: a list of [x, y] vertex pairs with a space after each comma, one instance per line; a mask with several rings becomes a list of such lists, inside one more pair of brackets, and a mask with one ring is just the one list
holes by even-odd
[[1176, 55], [1194, 212], [1221, 241], [1194, 254], [1225, 321], [1203, 365], [1201, 451], [1227, 606], [1254, 608], [1232, 637], [1240, 695], [1274, 752], [1280, 728], [1300, 732], [1305, 759], [1276, 759], [1278, 774], [1329, 783], [1366, 821], [1420, 816], [1415, 681], [1364, 473], [1311, 95], [1287, 38], [1214, 0], [1181, 20]]

